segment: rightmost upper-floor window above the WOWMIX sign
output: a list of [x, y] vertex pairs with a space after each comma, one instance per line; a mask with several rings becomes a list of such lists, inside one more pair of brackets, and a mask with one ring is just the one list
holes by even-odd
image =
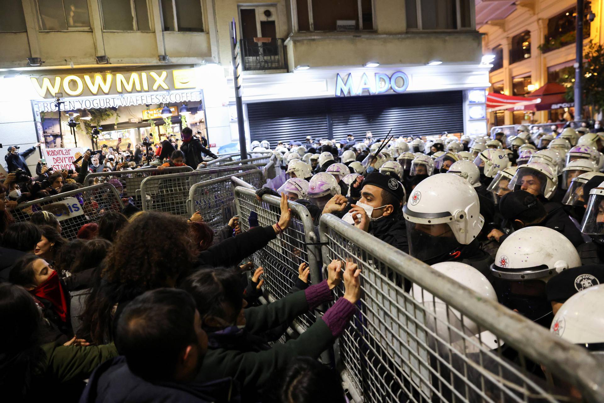
[[201, 0], [161, 0], [164, 31], [203, 32]]

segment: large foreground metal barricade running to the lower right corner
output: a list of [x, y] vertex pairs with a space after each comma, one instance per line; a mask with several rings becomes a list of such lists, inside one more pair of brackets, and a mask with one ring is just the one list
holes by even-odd
[[362, 269], [359, 311], [335, 348], [355, 402], [565, 402], [571, 386], [604, 401], [604, 366], [586, 349], [332, 214], [320, 239], [323, 262]]

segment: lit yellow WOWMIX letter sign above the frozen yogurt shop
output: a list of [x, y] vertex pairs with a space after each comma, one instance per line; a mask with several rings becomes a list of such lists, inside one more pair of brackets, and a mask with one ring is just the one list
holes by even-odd
[[43, 98], [53, 98], [57, 92], [61, 92], [64, 97], [79, 97], [171, 91], [197, 88], [198, 84], [195, 69], [31, 77], [31, 83]]

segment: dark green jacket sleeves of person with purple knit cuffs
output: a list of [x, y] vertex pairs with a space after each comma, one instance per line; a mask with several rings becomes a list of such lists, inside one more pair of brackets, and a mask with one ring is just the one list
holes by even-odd
[[[246, 330], [257, 334], [285, 321], [291, 321], [308, 311], [304, 291], [290, 294], [278, 301], [245, 309]], [[198, 379], [210, 382], [230, 376], [239, 381], [242, 396], [258, 392], [275, 380], [297, 356], [318, 357], [333, 344], [334, 337], [327, 324], [317, 319], [306, 332], [287, 343], [275, 343], [271, 349], [260, 352], [242, 352], [233, 349], [208, 349]]]

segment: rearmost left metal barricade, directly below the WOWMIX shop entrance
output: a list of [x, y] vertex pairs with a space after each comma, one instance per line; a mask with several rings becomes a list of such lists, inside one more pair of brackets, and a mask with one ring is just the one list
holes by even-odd
[[84, 178], [84, 184], [86, 186], [94, 185], [100, 182], [107, 182], [109, 179], [120, 179], [123, 182], [123, 195], [124, 197], [132, 197], [133, 204], [138, 208], [141, 207], [141, 199], [137, 197], [137, 190], [141, 189], [141, 182], [144, 178], [155, 175], [169, 175], [170, 173], [177, 172], [191, 172], [193, 168], [189, 166], [182, 167], [166, 167], [163, 170], [157, 168], [149, 169], [133, 169], [133, 170], [121, 170], [115, 172], [93, 172], [86, 175]]

